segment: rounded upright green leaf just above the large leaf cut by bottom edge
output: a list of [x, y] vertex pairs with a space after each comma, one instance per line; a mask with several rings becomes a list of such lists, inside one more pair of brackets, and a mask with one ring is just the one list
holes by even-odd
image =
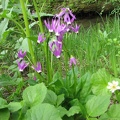
[[47, 88], [43, 83], [35, 86], [29, 86], [23, 91], [23, 100], [28, 106], [34, 106], [42, 103], [47, 94]]

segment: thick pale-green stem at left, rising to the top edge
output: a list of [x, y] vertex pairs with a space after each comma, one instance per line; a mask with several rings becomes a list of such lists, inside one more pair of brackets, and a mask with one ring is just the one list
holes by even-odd
[[28, 39], [28, 47], [29, 47], [29, 51], [30, 54], [32, 56], [32, 62], [34, 64], [36, 64], [36, 59], [35, 59], [35, 55], [34, 55], [34, 51], [33, 51], [33, 47], [32, 47], [32, 42], [29, 39], [30, 37], [30, 31], [29, 31], [29, 23], [28, 23], [28, 19], [27, 19], [27, 13], [26, 13], [26, 9], [25, 9], [25, 3], [24, 0], [20, 0], [20, 4], [21, 4], [21, 8], [22, 8], [22, 13], [23, 13], [23, 19], [25, 22], [25, 28], [26, 28], [26, 37]]

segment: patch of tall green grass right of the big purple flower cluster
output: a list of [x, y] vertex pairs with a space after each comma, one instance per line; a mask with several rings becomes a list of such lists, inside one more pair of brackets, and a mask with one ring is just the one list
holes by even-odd
[[81, 74], [105, 67], [117, 77], [119, 56], [116, 55], [120, 49], [119, 39], [120, 21], [119, 17], [114, 17], [112, 20], [107, 18], [101, 25], [98, 23], [87, 29], [81, 25], [79, 34], [69, 33], [64, 42], [69, 54], [78, 59]]

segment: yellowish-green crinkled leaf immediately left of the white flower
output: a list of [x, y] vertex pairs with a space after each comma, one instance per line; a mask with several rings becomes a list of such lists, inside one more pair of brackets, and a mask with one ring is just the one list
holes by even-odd
[[100, 69], [96, 73], [94, 73], [91, 77], [92, 83], [92, 92], [95, 95], [105, 95], [109, 94], [107, 85], [113, 78], [107, 74], [105, 69]]

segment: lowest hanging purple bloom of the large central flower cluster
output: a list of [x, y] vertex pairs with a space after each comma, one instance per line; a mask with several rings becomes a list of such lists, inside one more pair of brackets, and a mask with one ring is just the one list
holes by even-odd
[[56, 56], [56, 58], [60, 58], [62, 52], [62, 42], [59, 42], [58, 40], [50, 41], [49, 47], [53, 54]]

